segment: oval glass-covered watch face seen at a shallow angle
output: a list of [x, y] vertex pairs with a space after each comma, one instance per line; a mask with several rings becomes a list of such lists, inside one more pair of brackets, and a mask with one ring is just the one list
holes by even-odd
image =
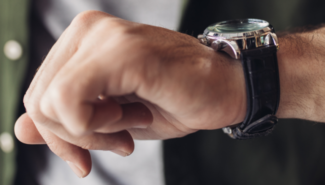
[[268, 25], [269, 23], [265, 20], [247, 18], [217, 22], [206, 29], [215, 33], [239, 33], [260, 30]]

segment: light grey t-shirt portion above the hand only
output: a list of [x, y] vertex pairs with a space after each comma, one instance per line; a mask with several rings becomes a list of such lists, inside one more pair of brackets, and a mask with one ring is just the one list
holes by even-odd
[[48, 31], [58, 38], [81, 11], [95, 9], [114, 16], [175, 30], [183, 0], [36, 0]]

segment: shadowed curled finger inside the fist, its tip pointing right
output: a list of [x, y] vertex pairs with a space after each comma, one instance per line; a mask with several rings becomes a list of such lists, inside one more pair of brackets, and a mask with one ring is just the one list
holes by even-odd
[[153, 116], [151, 111], [140, 102], [121, 104], [123, 116], [113, 124], [102, 124], [95, 131], [112, 133], [128, 128], [146, 128], [152, 123]]

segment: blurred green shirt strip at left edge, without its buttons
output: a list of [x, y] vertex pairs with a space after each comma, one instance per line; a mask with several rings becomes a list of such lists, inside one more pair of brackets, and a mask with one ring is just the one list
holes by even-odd
[[[29, 0], [0, 0], [0, 134], [7, 132], [14, 137], [21, 83], [28, 58], [28, 12]], [[8, 40], [20, 43], [23, 53], [16, 60], [8, 59], [3, 46]], [[0, 184], [12, 183], [15, 172], [15, 149], [0, 151]]]

